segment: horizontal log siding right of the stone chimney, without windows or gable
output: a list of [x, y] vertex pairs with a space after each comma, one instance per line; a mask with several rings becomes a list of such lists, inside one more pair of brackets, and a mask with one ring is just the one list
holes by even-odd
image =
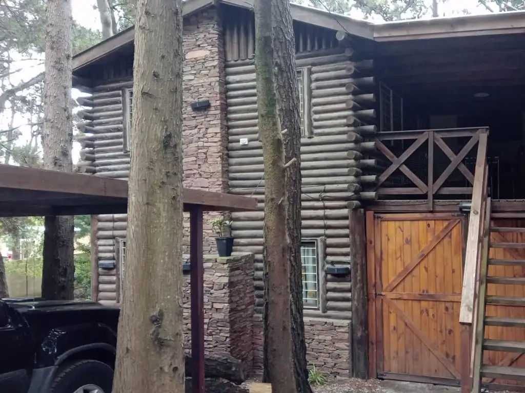
[[[304, 113], [305, 124], [311, 124], [311, 137], [301, 138], [302, 237], [324, 239], [326, 264], [349, 266], [348, 203], [358, 200], [361, 190], [355, 176], [359, 166], [355, 158], [359, 158], [360, 153], [353, 154], [360, 146], [349, 140], [349, 133], [353, 136], [359, 127], [349, 125], [348, 117], [352, 112], [346, 105], [353, 97], [346, 86], [355, 81], [352, 77], [356, 63], [350, 60], [348, 50], [337, 48], [303, 53], [298, 56], [297, 65], [309, 71], [306, 73], [310, 78], [306, 94], [310, 97], [305, 101], [311, 103], [310, 111]], [[371, 62], [363, 61], [359, 65], [370, 66]], [[227, 62], [226, 90], [230, 193], [253, 196], [259, 201], [258, 212], [233, 213], [234, 250], [256, 255], [256, 307], [260, 308], [264, 165], [262, 147], [257, 140], [254, 65], [246, 61]], [[362, 93], [370, 92], [364, 90]], [[307, 130], [305, 133], [309, 134]], [[248, 139], [248, 144], [241, 145], [241, 138]], [[323, 266], [320, 271], [323, 274]], [[350, 277], [328, 275], [323, 279], [323, 311], [335, 316], [348, 314], [351, 310]]]

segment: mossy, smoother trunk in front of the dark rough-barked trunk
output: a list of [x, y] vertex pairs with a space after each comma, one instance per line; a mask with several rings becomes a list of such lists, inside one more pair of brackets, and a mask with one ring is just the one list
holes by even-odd
[[[274, 393], [296, 390], [290, 322], [290, 264], [286, 227], [285, 152], [274, 85], [272, 2], [255, 6], [259, 132], [265, 171], [264, 378]], [[297, 82], [296, 82], [297, 83]], [[297, 162], [292, 163], [298, 165]]]

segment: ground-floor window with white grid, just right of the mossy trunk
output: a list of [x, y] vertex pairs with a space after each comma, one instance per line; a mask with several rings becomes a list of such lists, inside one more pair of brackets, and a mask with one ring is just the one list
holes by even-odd
[[302, 302], [304, 308], [319, 308], [319, 256], [315, 240], [301, 241]]

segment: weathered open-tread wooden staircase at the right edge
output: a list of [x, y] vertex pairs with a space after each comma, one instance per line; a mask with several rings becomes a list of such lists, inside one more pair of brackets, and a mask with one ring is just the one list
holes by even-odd
[[496, 227], [491, 220], [490, 199], [486, 202], [486, 213], [484, 220], [483, 238], [480, 242], [480, 266], [479, 266], [479, 289], [477, 291], [478, 304], [477, 314], [474, 318], [474, 348], [472, 363], [472, 393], [481, 391], [484, 378], [503, 379], [503, 380], [521, 380], [525, 381], [525, 368], [488, 365], [484, 364], [484, 351], [500, 351], [506, 353], [525, 353], [525, 342], [491, 340], [485, 338], [486, 326], [498, 326], [500, 328], [525, 328], [525, 318], [511, 318], [509, 316], [487, 316], [487, 305], [505, 305], [525, 307], [525, 298], [506, 297], [506, 296], [488, 296], [487, 286], [490, 284], [502, 285], [523, 285], [525, 286], [525, 277], [498, 277], [489, 275], [489, 266], [519, 266], [525, 267], [525, 259], [494, 259], [489, 258], [490, 248], [513, 248], [524, 249], [525, 243], [495, 243], [491, 241], [493, 233], [525, 233], [525, 228], [513, 227]]

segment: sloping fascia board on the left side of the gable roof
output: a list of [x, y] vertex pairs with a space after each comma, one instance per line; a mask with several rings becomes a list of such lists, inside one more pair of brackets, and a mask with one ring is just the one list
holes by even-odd
[[[182, 16], [190, 16], [203, 8], [215, 5], [218, 0], [190, 0], [183, 3]], [[130, 27], [118, 35], [108, 38], [73, 57], [73, 72], [107, 56], [107, 54], [127, 45], [135, 39], [135, 28]]]

